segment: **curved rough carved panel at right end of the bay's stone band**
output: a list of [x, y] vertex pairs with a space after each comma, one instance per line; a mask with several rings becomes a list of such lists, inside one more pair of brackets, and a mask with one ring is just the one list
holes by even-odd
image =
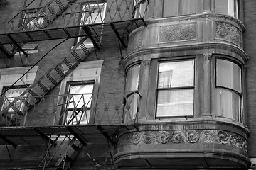
[[242, 33], [230, 23], [216, 22], [216, 38], [233, 42], [242, 47]]

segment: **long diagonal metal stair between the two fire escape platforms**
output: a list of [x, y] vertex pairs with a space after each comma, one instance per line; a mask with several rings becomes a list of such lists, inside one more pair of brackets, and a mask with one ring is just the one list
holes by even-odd
[[[42, 96], [48, 94], [48, 92], [58, 83], [60, 83], [60, 81], [62, 81], [66, 75], [72, 72], [72, 70], [75, 69], [80, 62], [86, 60], [93, 50], [92, 48], [87, 49], [86, 44], [83, 43], [87, 38], [88, 37], [82, 38], [82, 40], [80, 40], [80, 42], [73, 47], [70, 53], [66, 55], [61, 62], [51, 67], [48, 72], [45, 72], [40, 79], [31, 84], [31, 86], [23, 91], [18, 98], [14, 98], [14, 101], [12, 101], [8, 106], [6, 106], [6, 108], [4, 108], [3, 111], [0, 112], [1, 116], [6, 118], [11, 125], [17, 125], [16, 120], [11, 120], [11, 118], [9, 118], [6, 114], [9, 112], [10, 108], [18, 113], [18, 115], [23, 116], [26, 111], [32, 108], [41, 99]], [[62, 64], [64, 64], [68, 70], [64, 70]], [[24, 98], [23, 96], [29, 97]], [[8, 98], [5, 97], [4, 100], [8, 101]], [[19, 111], [19, 109], [15, 107], [15, 103], [18, 101], [24, 103], [25, 108], [23, 111]]]

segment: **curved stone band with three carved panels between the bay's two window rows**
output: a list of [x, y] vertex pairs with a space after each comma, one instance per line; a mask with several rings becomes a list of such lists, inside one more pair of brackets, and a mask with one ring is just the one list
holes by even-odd
[[146, 29], [137, 28], [129, 35], [128, 55], [144, 48], [202, 42], [223, 42], [242, 49], [242, 32], [245, 28], [240, 21], [230, 16], [208, 13], [147, 22]]

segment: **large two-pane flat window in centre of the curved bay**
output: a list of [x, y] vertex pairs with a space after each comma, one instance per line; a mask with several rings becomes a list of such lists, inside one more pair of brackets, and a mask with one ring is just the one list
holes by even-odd
[[161, 62], [156, 117], [193, 116], [194, 61]]

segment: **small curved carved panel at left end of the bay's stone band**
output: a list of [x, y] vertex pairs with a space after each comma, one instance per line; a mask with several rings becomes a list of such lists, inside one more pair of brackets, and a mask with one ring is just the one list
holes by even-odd
[[142, 30], [138, 31], [137, 33], [132, 34], [129, 37], [128, 51], [131, 52], [135, 48], [141, 47], [142, 46], [142, 39], [143, 39]]

